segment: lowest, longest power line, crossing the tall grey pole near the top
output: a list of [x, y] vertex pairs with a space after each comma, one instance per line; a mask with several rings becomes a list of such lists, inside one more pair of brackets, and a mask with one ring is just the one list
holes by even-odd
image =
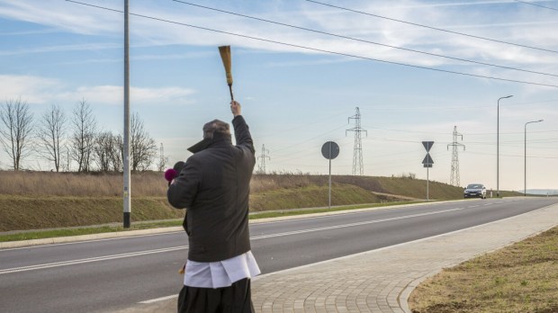
[[[109, 11], [113, 11], [113, 12], [122, 13], [120, 10], [106, 8], [106, 7], [99, 6], [99, 5], [84, 4], [84, 3], [77, 2], [77, 1], [74, 1], [74, 0], [66, 0], [66, 1], [71, 2], [71, 3], [75, 3], [75, 4], [83, 4], [83, 5], [99, 8], [99, 9], [104, 9], [104, 10], [109, 10]], [[545, 86], [545, 87], [558, 88], [558, 85], [548, 85], [548, 84], [534, 83], [534, 82], [528, 82], [528, 81], [522, 81], [522, 80], [516, 80], [516, 79], [495, 77], [495, 76], [484, 76], [484, 75], [479, 75], [479, 74], [456, 72], [456, 71], [451, 71], [451, 70], [441, 69], [441, 68], [422, 67], [422, 66], [411, 65], [411, 64], [401, 63], [401, 62], [388, 61], [388, 60], [379, 59], [379, 58], [368, 58], [368, 57], [363, 57], [363, 56], [356, 56], [356, 55], [349, 54], [349, 53], [331, 51], [331, 50], [326, 50], [326, 49], [311, 48], [311, 47], [306, 47], [306, 46], [297, 45], [297, 44], [293, 44], [293, 43], [286, 43], [286, 42], [282, 42], [282, 41], [267, 40], [267, 39], [264, 39], [264, 38], [258, 38], [258, 37], [254, 37], [254, 36], [243, 35], [243, 34], [234, 33], [234, 32], [230, 32], [230, 31], [220, 31], [220, 30], [215, 30], [215, 29], [202, 27], [202, 26], [197, 26], [197, 25], [193, 25], [193, 24], [188, 24], [188, 23], [184, 23], [184, 22], [170, 21], [170, 20], [166, 20], [166, 19], [162, 19], [162, 18], [158, 18], [158, 17], [153, 17], [153, 16], [148, 16], [148, 15], [143, 15], [143, 14], [139, 14], [139, 13], [129, 13], [129, 14], [133, 15], [133, 16], [147, 18], [147, 19], [154, 20], [154, 21], [168, 22], [168, 23], [173, 23], [173, 24], [176, 24], [176, 25], [192, 27], [192, 28], [195, 28], [195, 29], [198, 29], [198, 30], [219, 32], [219, 33], [224, 33], [224, 34], [231, 35], [231, 36], [246, 38], [246, 39], [249, 39], [249, 40], [259, 40], [259, 41], [264, 41], [264, 42], [269, 42], [269, 43], [275, 43], [275, 44], [278, 44], [278, 45], [283, 45], [283, 46], [288, 46], [288, 47], [293, 47], [293, 48], [298, 48], [298, 49], [306, 49], [306, 50], [311, 50], [311, 51], [318, 51], [318, 52], [323, 52], [323, 53], [329, 53], [329, 54], [344, 56], [344, 57], [349, 57], [349, 58], [360, 58], [360, 59], [365, 59], [365, 60], [370, 60], [370, 61], [382, 62], [382, 63], [386, 63], [386, 64], [399, 65], [399, 66], [402, 66], [402, 67], [413, 67], [413, 68], [420, 68], [420, 69], [428, 69], [428, 70], [437, 71], [437, 72], [441, 72], [441, 73], [455, 74], [455, 75], [460, 75], [460, 76], [486, 78], [486, 79], [498, 80], [498, 81], [509, 82], [509, 83], [518, 83], [518, 84], [526, 84], [526, 85], [539, 85], [539, 86]]]

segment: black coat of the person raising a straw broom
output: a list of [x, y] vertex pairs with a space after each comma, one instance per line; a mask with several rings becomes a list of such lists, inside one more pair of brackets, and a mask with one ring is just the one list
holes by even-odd
[[200, 151], [186, 160], [166, 193], [173, 207], [187, 210], [191, 261], [217, 262], [250, 250], [248, 194], [255, 150], [244, 118], [238, 115], [232, 125], [237, 145], [214, 136], [194, 146]]

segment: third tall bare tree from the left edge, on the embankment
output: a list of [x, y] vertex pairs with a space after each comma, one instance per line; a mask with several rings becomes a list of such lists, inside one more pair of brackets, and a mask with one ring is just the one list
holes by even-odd
[[96, 124], [91, 106], [85, 99], [77, 103], [73, 112], [73, 134], [70, 141], [72, 159], [77, 163], [77, 172], [89, 172]]

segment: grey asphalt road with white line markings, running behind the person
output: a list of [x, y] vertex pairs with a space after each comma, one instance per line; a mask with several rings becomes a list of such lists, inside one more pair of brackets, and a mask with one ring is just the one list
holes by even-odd
[[[397, 245], [558, 202], [509, 198], [254, 223], [262, 273]], [[128, 308], [175, 295], [187, 255], [183, 232], [0, 250], [0, 311], [76, 312]], [[435, 257], [435, 255], [433, 255]]]

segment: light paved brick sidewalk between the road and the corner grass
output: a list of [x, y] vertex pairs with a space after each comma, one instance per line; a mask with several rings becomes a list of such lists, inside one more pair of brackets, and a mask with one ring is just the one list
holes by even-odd
[[[261, 275], [257, 312], [410, 312], [410, 292], [443, 268], [558, 225], [558, 205], [398, 246]], [[120, 312], [175, 312], [175, 298]]]

